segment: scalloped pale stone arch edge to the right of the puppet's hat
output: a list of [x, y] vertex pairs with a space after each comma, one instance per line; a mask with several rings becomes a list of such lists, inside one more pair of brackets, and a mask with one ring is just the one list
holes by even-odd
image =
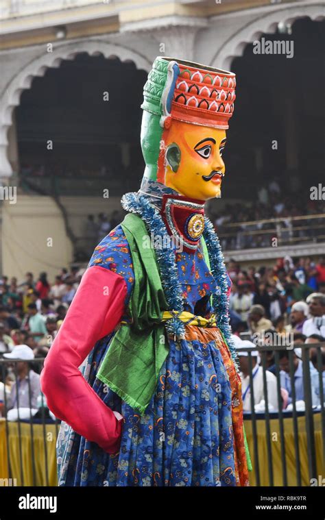
[[215, 53], [210, 65], [230, 70], [233, 58], [241, 56], [248, 43], [258, 40], [263, 33], [273, 34], [278, 23], [293, 23], [298, 18], [306, 16], [311, 20], [320, 21], [324, 18], [324, 14], [324, 3], [321, 2], [302, 1], [274, 6], [272, 11], [256, 15], [253, 21], [232, 34]]

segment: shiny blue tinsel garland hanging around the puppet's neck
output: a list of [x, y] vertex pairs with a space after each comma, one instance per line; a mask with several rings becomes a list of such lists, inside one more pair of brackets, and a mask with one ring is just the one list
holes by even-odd
[[[161, 247], [155, 247], [158, 267], [161, 274], [161, 283], [165, 292], [165, 297], [169, 308], [181, 312], [183, 310], [182, 285], [178, 279], [178, 270], [175, 262], [175, 252], [171, 247], [164, 247], [168, 240], [163, 240], [167, 229], [157, 208], [148, 201], [147, 197], [138, 193], [126, 193], [121, 199], [121, 204], [125, 211], [139, 214], [145, 221], [150, 234], [160, 237], [158, 243]], [[224, 255], [221, 251], [219, 239], [213, 224], [204, 217], [204, 240], [208, 249], [210, 267], [213, 276], [220, 288], [220, 295], [213, 295], [213, 306], [217, 315], [217, 326], [221, 330], [226, 343], [230, 349], [232, 359], [237, 366], [237, 352], [231, 339], [231, 330], [228, 315], [228, 283]], [[175, 336], [184, 335], [184, 323], [177, 317], [170, 319], [166, 323], [167, 330]]]

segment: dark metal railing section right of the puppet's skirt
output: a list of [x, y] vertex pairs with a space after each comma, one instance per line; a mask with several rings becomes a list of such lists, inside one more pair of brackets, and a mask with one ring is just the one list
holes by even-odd
[[[241, 336], [245, 336], [246, 333]], [[302, 352], [302, 373], [303, 373], [303, 388], [304, 388], [304, 410], [298, 410], [296, 404], [296, 385], [295, 385], [295, 368], [293, 364], [293, 358], [295, 351], [293, 347], [263, 347], [254, 346], [245, 349], [238, 349], [247, 353], [248, 355], [248, 367], [249, 367], [249, 386], [250, 386], [250, 413], [244, 412], [244, 420], [247, 423], [248, 419], [252, 423], [252, 440], [253, 440], [253, 453], [252, 458], [254, 459], [254, 473], [256, 477], [256, 485], [261, 485], [261, 464], [259, 457], [259, 449], [261, 445], [258, 443], [258, 422], [263, 421], [265, 423], [265, 443], [267, 445], [267, 472], [268, 472], [268, 485], [274, 486], [274, 463], [272, 457], [272, 429], [271, 423], [274, 419], [278, 421], [278, 430], [280, 432], [280, 459], [281, 459], [281, 471], [282, 471], [282, 486], [288, 486], [288, 471], [287, 471], [287, 445], [285, 442], [285, 422], [291, 423], [291, 430], [293, 432], [294, 442], [294, 458], [296, 465], [296, 486], [302, 486], [302, 467], [301, 467], [301, 443], [300, 443], [300, 431], [298, 428], [299, 417], [304, 418], [304, 433], [306, 434], [306, 454], [308, 459], [308, 471], [309, 481], [312, 479], [318, 479], [317, 467], [324, 469], [325, 465], [325, 412], [324, 412], [324, 384], [323, 384], [323, 360], [322, 353], [325, 351], [325, 343], [310, 343], [297, 345]], [[296, 347], [295, 347], [296, 348]], [[318, 372], [318, 384], [320, 394], [320, 404], [315, 405], [312, 398], [312, 384], [311, 384], [311, 361], [309, 358], [309, 350], [313, 348], [317, 351], [317, 372]], [[265, 411], [256, 412], [256, 401], [254, 396], [254, 379], [253, 379], [253, 360], [252, 351], [258, 351], [260, 357], [260, 366], [263, 370], [263, 393], [265, 399]], [[277, 402], [278, 410], [276, 412], [270, 411], [269, 406], [269, 395], [267, 388], [267, 354], [274, 352], [274, 365], [276, 375], [276, 386], [277, 386]], [[280, 353], [287, 351], [289, 358], [289, 377], [291, 383], [291, 397], [292, 397], [292, 410], [287, 411], [283, 409], [283, 401], [280, 387]], [[314, 419], [316, 414], [320, 415], [321, 431], [322, 431], [322, 460], [316, 458], [316, 447], [315, 447], [315, 428]], [[288, 426], [288, 424], [287, 424]], [[319, 452], [320, 450], [318, 450]], [[265, 468], [263, 468], [265, 471]], [[324, 476], [324, 475], [323, 475]], [[306, 479], [305, 479], [306, 480]], [[291, 478], [292, 481], [292, 478]], [[265, 484], [264, 484], [265, 485]], [[292, 484], [291, 484], [292, 485]]]

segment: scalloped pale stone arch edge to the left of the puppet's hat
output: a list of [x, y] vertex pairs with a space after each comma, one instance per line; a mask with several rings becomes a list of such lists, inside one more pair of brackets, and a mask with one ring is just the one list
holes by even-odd
[[128, 47], [107, 43], [102, 40], [68, 42], [55, 47], [53, 52], [43, 52], [38, 58], [27, 63], [5, 87], [0, 98], [0, 177], [10, 177], [12, 166], [7, 157], [8, 129], [12, 125], [12, 111], [19, 105], [23, 90], [32, 86], [33, 78], [43, 76], [49, 68], [58, 68], [62, 60], [74, 60], [77, 54], [104, 55], [105, 58], [117, 57], [121, 62], [132, 61], [138, 69], [149, 71], [152, 64], [141, 53]]

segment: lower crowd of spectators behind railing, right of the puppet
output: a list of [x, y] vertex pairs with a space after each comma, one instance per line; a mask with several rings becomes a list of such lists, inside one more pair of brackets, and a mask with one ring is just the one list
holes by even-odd
[[[248, 351], [239, 350], [243, 408], [251, 411], [250, 385], [254, 388], [256, 412], [265, 412], [265, 388], [260, 352], [265, 348], [267, 359], [267, 398], [269, 411], [278, 410], [275, 349], [279, 351], [280, 403], [283, 410], [304, 410], [304, 371], [302, 344], [325, 342], [325, 257], [318, 262], [310, 258], [280, 258], [273, 267], [241, 269], [231, 260], [228, 273], [232, 280], [230, 322], [237, 348], [252, 352], [252, 373], [248, 370]], [[250, 339], [242, 340], [243, 337]], [[293, 349], [293, 371], [290, 373], [289, 351]], [[325, 346], [309, 347], [312, 405], [320, 406], [325, 389]], [[250, 375], [253, 378], [251, 381]], [[293, 379], [291, 378], [293, 375]], [[321, 377], [320, 377], [321, 375]], [[294, 380], [294, 389], [291, 381]], [[320, 384], [322, 381], [322, 385]]]

